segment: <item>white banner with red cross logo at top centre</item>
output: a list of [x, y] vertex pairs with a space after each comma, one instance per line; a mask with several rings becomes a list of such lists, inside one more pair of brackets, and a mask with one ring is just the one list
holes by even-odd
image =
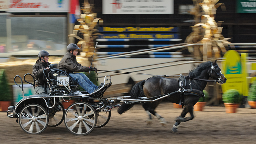
[[173, 0], [102, 0], [103, 14], [173, 14]]

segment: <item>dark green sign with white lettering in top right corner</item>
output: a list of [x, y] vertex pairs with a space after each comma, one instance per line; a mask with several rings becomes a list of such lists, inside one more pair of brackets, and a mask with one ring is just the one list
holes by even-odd
[[237, 13], [256, 13], [256, 0], [237, 0]]

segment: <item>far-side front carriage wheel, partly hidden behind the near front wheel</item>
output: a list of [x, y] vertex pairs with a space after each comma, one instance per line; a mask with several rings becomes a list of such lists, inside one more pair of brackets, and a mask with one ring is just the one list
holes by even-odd
[[97, 115], [97, 124], [95, 127], [100, 128], [105, 126], [110, 119], [111, 116], [111, 111], [103, 112], [103, 109], [101, 110], [96, 110], [96, 115]]

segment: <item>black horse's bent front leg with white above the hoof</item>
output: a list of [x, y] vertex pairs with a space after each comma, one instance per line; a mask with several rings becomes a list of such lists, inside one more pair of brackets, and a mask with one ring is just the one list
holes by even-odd
[[[184, 118], [188, 112], [190, 113], [190, 117]], [[176, 121], [176, 123], [173, 125], [171, 131], [173, 133], [178, 133], [179, 124], [181, 122], [192, 120], [193, 118], [194, 118], [193, 106], [192, 107], [191, 106], [185, 106], [183, 111], [182, 111], [182, 113], [181, 113], [181, 115], [174, 119], [174, 121]]]

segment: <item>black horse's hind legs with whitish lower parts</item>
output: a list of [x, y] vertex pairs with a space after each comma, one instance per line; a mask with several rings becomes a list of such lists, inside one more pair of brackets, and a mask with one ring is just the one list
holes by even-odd
[[147, 121], [147, 124], [151, 124], [152, 123], [152, 116], [151, 114], [153, 114], [154, 116], [156, 116], [159, 120], [159, 122], [162, 124], [162, 125], [165, 125], [166, 124], [166, 120], [160, 116], [159, 114], [157, 114], [155, 112], [155, 108], [158, 104], [153, 104], [153, 103], [144, 103], [142, 106], [143, 108], [146, 110], [147, 114], [148, 114], [148, 121]]

